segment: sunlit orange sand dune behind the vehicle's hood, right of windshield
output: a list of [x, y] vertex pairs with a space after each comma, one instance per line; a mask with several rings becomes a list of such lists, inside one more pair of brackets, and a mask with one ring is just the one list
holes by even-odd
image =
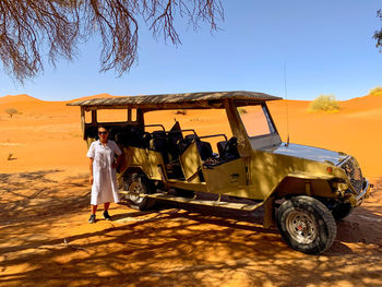
[[309, 101], [270, 103], [275, 123], [285, 141], [339, 151], [357, 157], [366, 175], [380, 176], [382, 162], [382, 97], [366, 96], [341, 101], [336, 113], [308, 112]]

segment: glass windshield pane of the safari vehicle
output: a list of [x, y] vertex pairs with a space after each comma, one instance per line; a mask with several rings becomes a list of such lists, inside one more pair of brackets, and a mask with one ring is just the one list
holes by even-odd
[[237, 107], [249, 137], [275, 133], [265, 105]]

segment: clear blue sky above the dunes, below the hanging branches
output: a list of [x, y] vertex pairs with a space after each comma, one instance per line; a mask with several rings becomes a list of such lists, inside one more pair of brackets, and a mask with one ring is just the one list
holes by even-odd
[[155, 40], [140, 28], [139, 61], [130, 73], [99, 73], [99, 44], [80, 47], [73, 62], [61, 60], [44, 74], [15, 83], [0, 70], [0, 96], [28, 94], [67, 100], [100, 93], [145, 95], [244, 89], [289, 99], [333, 94], [337, 99], [365, 96], [382, 86], [382, 53], [372, 35], [381, 27], [380, 0], [223, 0], [225, 21], [210, 33], [195, 33], [181, 20], [182, 45]]

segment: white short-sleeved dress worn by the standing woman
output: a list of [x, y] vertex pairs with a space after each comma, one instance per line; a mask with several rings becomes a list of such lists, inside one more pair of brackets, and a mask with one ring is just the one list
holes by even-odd
[[121, 154], [116, 142], [108, 140], [104, 146], [98, 140], [93, 142], [87, 151], [87, 157], [93, 162], [93, 186], [91, 204], [98, 205], [106, 202], [119, 202], [116, 169], [111, 167], [115, 154]]

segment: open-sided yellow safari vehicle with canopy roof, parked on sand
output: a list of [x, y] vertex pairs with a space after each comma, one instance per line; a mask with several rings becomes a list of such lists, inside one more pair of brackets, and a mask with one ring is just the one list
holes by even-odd
[[[123, 151], [118, 179], [130, 206], [147, 210], [158, 199], [248, 212], [264, 206], [264, 227], [277, 224], [293, 249], [319, 254], [336, 237], [335, 219], [357, 207], [370, 184], [350, 155], [282, 142], [266, 105], [276, 99], [216, 92], [69, 105], [81, 107], [88, 145], [102, 122]], [[105, 111], [122, 116], [100, 120]]]

